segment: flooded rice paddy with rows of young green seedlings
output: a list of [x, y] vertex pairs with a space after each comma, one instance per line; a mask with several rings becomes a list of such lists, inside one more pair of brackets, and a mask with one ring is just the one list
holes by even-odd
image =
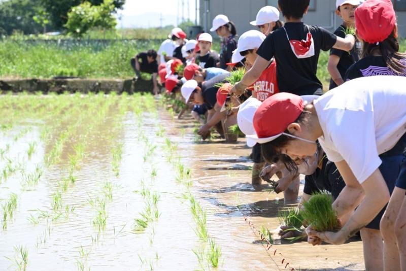
[[150, 95], [2, 96], [0, 270], [364, 269], [360, 241], [281, 242], [283, 194], [251, 186], [245, 140], [201, 141], [162, 108]]

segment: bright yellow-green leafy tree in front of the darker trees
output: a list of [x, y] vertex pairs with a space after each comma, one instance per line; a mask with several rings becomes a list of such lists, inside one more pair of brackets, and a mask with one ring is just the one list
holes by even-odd
[[83, 36], [89, 29], [95, 27], [111, 29], [117, 24], [113, 16], [114, 10], [113, 0], [104, 0], [98, 6], [92, 6], [86, 1], [72, 8], [67, 14], [68, 19], [64, 26], [76, 37]]

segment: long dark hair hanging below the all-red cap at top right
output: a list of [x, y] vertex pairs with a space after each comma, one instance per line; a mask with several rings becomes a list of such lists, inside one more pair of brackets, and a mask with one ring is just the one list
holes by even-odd
[[386, 65], [395, 73], [406, 74], [406, 54], [399, 53], [399, 42], [391, 33], [386, 40], [378, 44], [363, 42], [362, 57], [373, 55], [376, 50], [384, 58]]

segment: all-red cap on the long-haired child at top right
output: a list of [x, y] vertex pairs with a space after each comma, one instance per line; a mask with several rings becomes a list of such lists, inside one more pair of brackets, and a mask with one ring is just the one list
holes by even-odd
[[366, 0], [355, 10], [355, 28], [367, 43], [382, 42], [393, 32], [396, 14], [391, 0]]

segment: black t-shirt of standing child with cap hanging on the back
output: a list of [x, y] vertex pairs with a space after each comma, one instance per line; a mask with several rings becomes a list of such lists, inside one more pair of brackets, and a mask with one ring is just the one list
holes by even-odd
[[[314, 40], [315, 55], [297, 58], [293, 53], [290, 40], [306, 40], [310, 31]], [[300, 23], [285, 23], [285, 26], [270, 33], [259, 47], [257, 54], [266, 60], [275, 57], [277, 62], [277, 79], [280, 92], [297, 95], [313, 94], [323, 86], [316, 77], [320, 50], [327, 51], [333, 47], [337, 37], [324, 28]]]

